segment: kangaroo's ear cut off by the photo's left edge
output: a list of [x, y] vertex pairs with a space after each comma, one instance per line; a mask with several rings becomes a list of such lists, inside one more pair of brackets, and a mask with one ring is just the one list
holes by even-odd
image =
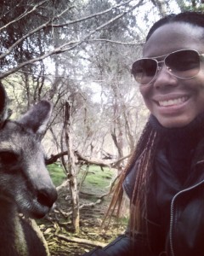
[[0, 82], [0, 126], [8, 118], [8, 96], [3, 84]]

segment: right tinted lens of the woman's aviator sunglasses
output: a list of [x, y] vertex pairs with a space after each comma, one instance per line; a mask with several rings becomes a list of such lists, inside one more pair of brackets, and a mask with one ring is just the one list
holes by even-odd
[[167, 55], [165, 64], [178, 78], [193, 78], [200, 70], [200, 57], [195, 50], [184, 49]]

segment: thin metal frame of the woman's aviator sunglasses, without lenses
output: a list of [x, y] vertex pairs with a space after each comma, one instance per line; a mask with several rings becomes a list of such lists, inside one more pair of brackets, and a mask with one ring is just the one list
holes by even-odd
[[[134, 75], [133, 75], [134, 79], [136, 80], [137, 83], [139, 83], [139, 86], [145, 86], [145, 85], [151, 84], [151, 83], [154, 81], [154, 79], [156, 79], [157, 74], [160, 72], [160, 70], [161, 70], [161, 68], [162, 68], [162, 67], [159, 65], [160, 63], [164, 63], [164, 66], [167, 68], [167, 71], [168, 71], [171, 75], [173, 75], [174, 77], [176, 77], [176, 78], [178, 78], [178, 79], [193, 79], [193, 78], [195, 78], [195, 76], [200, 72], [201, 67], [199, 68], [198, 73], [196, 73], [194, 76], [191, 76], [190, 78], [181, 78], [181, 77], [175, 75], [174, 73], [172, 73], [171, 67], [167, 67], [167, 65], [166, 65], [166, 63], [165, 63], [165, 61], [166, 61], [166, 59], [167, 59], [167, 57], [168, 57], [169, 55], [172, 55], [172, 54], [174, 54], [174, 53], [181, 52], [181, 51], [187, 51], [187, 50], [194, 51], [194, 52], [199, 56], [200, 62], [201, 62], [201, 57], [204, 58], [204, 54], [200, 54], [196, 49], [178, 49], [178, 50], [175, 50], [175, 51], [173, 51], [173, 52], [171, 52], [171, 53], [169, 53], [169, 54], [167, 54], [167, 55], [160, 55], [160, 56], [156, 56], [156, 57], [152, 57], [152, 58], [140, 58], [140, 59], [138, 59], [137, 61], [142, 61], [142, 60], [152, 60], [152, 61], [155, 61], [155, 62], [156, 62], [156, 73], [155, 73], [154, 77], [150, 80], [150, 82], [147, 83], [147, 84], [140, 84], [139, 81], [137, 81], [137, 80], [135, 79]], [[160, 58], [164, 58], [164, 59], [163, 59], [162, 61], [157, 61], [157, 60], [156, 60], [156, 59], [160, 59]], [[134, 61], [134, 62], [133, 62], [133, 65], [134, 65], [137, 61]], [[133, 74], [133, 66], [132, 66], [131, 73]]]

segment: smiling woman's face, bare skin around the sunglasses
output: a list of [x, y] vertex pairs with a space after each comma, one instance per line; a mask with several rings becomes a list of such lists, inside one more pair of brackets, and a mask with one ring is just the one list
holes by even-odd
[[[144, 45], [144, 57], [167, 55], [179, 49], [196, 49], [204, 53], [203, 33], [201, 27], [188, 23], [161, 26]], [[139, 88], [150, 113], [164, 127], [188, 125], [204, 112], [204, 64], [193, 79], [178, 79], [162, 66], [153, 82]]]

